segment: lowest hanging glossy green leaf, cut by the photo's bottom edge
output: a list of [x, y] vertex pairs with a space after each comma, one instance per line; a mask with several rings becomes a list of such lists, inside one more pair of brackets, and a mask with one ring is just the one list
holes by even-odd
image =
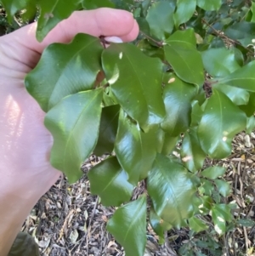
[[143, 256], [146, 243], [146, 196], [118, 208], [107, 230], [125, 249], [126, 256]]

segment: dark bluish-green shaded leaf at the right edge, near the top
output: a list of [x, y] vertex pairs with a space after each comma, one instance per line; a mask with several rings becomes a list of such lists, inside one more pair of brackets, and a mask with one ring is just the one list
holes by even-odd
[[239, 41], [244, 47], [253, 44], [255, 37], [255, 23], [241, 21], [229, 26], [224, 34], [231, 39]]

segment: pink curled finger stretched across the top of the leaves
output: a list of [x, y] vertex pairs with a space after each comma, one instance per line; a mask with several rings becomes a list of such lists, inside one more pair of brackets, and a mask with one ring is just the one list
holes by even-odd
[[15, 32], [15, 40], [26, 48], [41, 54], [50, 43], [68, 43], [77, 33], [86, 33], [94, 37], [116, 36], [123, 41], [134, 40], [139, 26], [133, 14], [119, 9], [95, 9], [77, 11], [67, 20], [62, 20], [42, 41], [36, 39], [37, 23], [25, 26]]

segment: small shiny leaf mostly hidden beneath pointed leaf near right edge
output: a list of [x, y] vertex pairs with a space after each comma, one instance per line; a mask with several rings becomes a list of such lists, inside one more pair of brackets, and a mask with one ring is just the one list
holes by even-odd
[[213, 84], [213, 88], [226, 94], [235, 105], [246, 105], [249, 102], [250, 94], [245, 89], [222, 83]]

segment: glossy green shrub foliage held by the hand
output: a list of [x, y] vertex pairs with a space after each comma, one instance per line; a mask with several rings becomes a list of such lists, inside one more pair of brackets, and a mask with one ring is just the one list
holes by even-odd
[[[148, 219], [160, 242], [173, 227], [207, 230], [199, 218], [207, 214], [224, 234], [232, 220], [221, 200], [229, 184], [218, 178], [225, 168], [201, 169], [206, 157], [229, 156], [235, 134], [255, 127], [255, 3], [2, 3], [9, 21], [21, 9], [28, 16], [40, 9], [39, 41], [75, 10], [133, 12], [140, 28], [135, 42], [78, 34], [69, 44], [48, 46], [26, 77], [54, 137], [51, 163], [75, 182], [90, 154], [109, 155], [88, 178], [105, 206], [118, 207], [107, 226], [127, 256], [144, 255]], [[142, 180], [144, 195], [129, 202]]]

